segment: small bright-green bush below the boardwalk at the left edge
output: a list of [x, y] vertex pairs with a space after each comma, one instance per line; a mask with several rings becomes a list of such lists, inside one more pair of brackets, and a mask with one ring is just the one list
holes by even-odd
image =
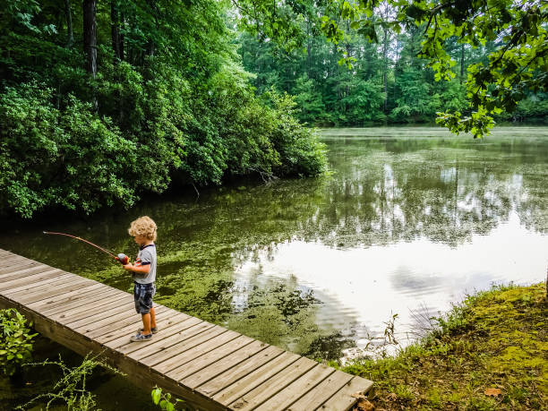
[[13, 375], [17, 368], [30, 360], [32, 338], [30, 323], [13, 308], [0, 310], [0, 364], [5, 375]]

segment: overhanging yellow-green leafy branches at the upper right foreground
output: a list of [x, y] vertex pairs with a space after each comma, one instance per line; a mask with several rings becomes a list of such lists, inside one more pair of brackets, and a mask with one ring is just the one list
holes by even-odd
[[[376, 42], [379, 30], [400, 33], [419, 27], [423, 30], [419, 56], [428, 60], [437, 81], [455, 77], [456, 62], [445, 48], [450, 39], [471, 47], [494, 41], [496, 47], [486, 62], [468, 67], [470, 114], [438, 113], [438, 123], [453, 133], [470, 132], [482, 137], [494, 125], [493, 114], [513, 111], [527, 92], [548, 90], [548, 3], [542, 0], [327, 0], [326, 12], [321, 16], [309, 12], [311, 4], [306, 0], [281, 2], [275, 8], [267, 7], [271, 3], [266, 0], [234, 3], [244, 15], [245, 27], [252, 27], [250, 21], [257, 22], [255, 32], [284, 47], [300, 46], [298, 36], [285, 42], [287, 33], [295, 31], [299, 19], [311, 16], [321, 21], [321, 30], [335, 45], [343, 42], [350, 29]], [[292, 18], [287, 21], [287, 16]], [[338, 51], [342, 54], [339, 63], [351, 67], [353, 57], [344, 47], [338, 47]]]

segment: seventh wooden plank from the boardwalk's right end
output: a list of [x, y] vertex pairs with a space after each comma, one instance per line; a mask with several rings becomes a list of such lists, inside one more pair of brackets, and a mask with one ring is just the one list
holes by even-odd
[[242, 363], [244, 360], [252, 357], [253, 355], [256, 355], [267, 347], [269, 347], [269, 345], [266, 343], [263, 343], [261, 341], [253, 341], [253, 343], [238, 349], [232, 354], [220, 358], [213, 364], [204, 367], [200, 370], [200, 372], [195, 372], [193, 373], [193, 375], [184, 377], [182, 380], [179, 381], [179, 383], [190, 389], [195, 389], [204, 382], [210, 381], [222, 372], [230, 370], [231, 368]]

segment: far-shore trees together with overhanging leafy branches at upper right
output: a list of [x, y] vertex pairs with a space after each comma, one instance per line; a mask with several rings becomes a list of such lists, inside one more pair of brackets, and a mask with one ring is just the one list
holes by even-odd
[[[547, 12], [536, 3], [301, 0], [283, 12], [259, 5], [259, 17], [241, 21], [253, 35], [241, 37], [240, 51], [256, 87], [294, 94], [304, 121], [433, 122], [444, 112], [439, 121], [452, 131], [481, 136], [491, 117], [548, 115]], [[244, 12], [245, 2], [237, 4]], [[253, 24], [261, 19], [278, 30]], [[299, 35], [287, 42], [283, 30]]]

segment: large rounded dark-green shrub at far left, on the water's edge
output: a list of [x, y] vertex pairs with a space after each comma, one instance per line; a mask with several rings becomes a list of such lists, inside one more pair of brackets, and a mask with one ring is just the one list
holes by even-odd
[[52, 93], [30, 83], [0, 96], [0, 213], [133, 204], [135, 144], [76, 98], [58, 110]]

